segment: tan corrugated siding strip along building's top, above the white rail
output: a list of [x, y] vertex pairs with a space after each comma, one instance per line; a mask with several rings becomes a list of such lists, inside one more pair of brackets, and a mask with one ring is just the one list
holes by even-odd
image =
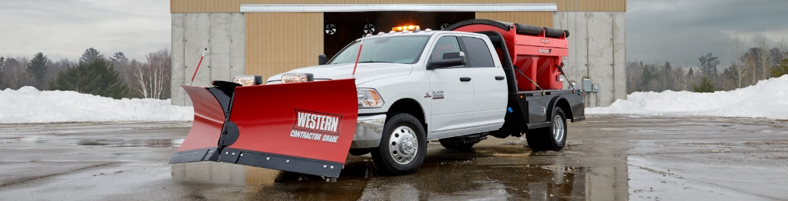
[[626, 0], [170, 0], [170, 13], [239, 13], [242, 4], [555, 3], [558, 11], [626, 11]]

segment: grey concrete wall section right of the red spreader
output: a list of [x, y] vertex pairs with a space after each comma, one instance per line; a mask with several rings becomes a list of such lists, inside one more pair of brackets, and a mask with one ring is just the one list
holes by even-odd
[[626, 28], [624, 12], [556, 12], [553, 27], [570, 32], [564, 71], [582, 89], [582, 79], [599, 83], [585, 96], [586, 107], [605, 107], [626, 99]]

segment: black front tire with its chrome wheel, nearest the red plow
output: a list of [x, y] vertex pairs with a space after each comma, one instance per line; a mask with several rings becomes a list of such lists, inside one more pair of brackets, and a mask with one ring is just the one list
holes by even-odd
[[413, 174], [424, 163], [427, 140], [424, 126], [409, 114], [396, 114], [383, 126], [381, 144], [372, 150], [372, 161], [383, 174]]

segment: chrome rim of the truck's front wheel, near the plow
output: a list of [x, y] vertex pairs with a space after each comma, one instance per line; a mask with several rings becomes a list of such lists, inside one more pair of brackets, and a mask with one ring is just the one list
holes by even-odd
[[388, 155], [394, 159], [394, 162], [407, 165], [416, 158], [416, 154], [418, 154], [418, 141], [411, 127], [397, 127], [388, 136]]

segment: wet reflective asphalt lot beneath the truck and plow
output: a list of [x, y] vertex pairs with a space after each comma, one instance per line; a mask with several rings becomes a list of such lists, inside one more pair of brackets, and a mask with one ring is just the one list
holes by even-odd
[[0, 200], [786, 200], [788, 121], [589, 116], [561, 152], [430, 143], [416, 174], [348, 156], [336, 181], [167, 164], [191, 122], [0, 124]]

